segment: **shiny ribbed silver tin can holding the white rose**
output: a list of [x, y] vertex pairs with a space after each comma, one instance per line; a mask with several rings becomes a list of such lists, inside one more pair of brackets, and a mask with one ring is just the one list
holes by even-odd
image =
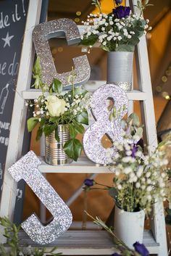
[[70, 139], [69, 125], [58, 125], [59, 142], [54, 131], [45, 137], [45, 161], [49, 165], [66, 165], [72, 162], [63, 150], [64, 143]]

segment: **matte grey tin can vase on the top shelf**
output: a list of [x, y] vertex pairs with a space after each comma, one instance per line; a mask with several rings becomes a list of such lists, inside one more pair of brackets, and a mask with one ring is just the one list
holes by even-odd
[[132, 90], [133, 52], [107, 52], [107, 83], [114, 83], [124, 91]]

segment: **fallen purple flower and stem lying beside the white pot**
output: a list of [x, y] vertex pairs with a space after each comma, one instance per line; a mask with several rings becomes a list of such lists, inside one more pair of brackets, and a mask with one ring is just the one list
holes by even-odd
[[[93, 219], [93, 223], [106, 230], [114, 238], [114, 247], [120, 250], [122, 256], [149, 256], [149, 251], [148, 249], [146, 249], [144, 244], [140, 244], [138, 241], [136, 241], [133, 244], [135, 250], [130, 249], [122, 240], [117, 237], [112, 228], [109, 228], [99, 217], [93, 218], [91, 215], [88, 214], [88, 212], [86, 212], [86, 214]], [[117, 252], [114, 252], [112, 256], [121, 255]]]

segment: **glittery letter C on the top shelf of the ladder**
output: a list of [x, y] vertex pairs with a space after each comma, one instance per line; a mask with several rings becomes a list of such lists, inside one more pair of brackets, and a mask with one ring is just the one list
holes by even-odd
[[[49, 85], [53, 78], [57, 78], [64, 85], [64, 89], [68, 89], [71, 83], [67, 80], [69, 75], [72, 75], [72, 71], [61, 74], [57, 73], [48, 42], [50, 38], [64, 36], [68, 45], [80, 42], [80, 33], [77, 25], [72, 20], [66, 18], [41, 23], [33, 30], [33, 42], [37, 57], [40, 58], [43, 82]], [[80, 86], [90, 78], [91, 68], [86, 55], [73, 58], [73, 62], [75, 65], [75, 86]]]

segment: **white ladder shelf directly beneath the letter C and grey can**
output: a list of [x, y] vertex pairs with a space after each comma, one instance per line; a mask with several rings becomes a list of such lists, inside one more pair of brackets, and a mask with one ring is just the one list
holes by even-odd
[[[88, 89], [88, 91], [95, 91], [96, 88]], [[36, 99], [40, 96], [41, 90], [30, 89], [27, 91], [22, 91], [22, 98], [23, 99]], [[46, 94], [45, 94], [46, 95]], [[144, 101], [146, 100], [146, 93], [138, 90], [128, 91], [127, 92], [128, 100], [136, 100], [136, 101]]]

